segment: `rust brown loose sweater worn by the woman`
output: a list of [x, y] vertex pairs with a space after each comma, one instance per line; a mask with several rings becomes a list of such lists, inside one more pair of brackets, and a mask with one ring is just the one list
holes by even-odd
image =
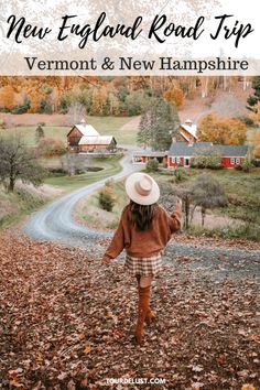
[[138, 230], [129, 220], [129, 206], [124, 207], [119, 226], [108, 247], [105, 258], [115, 259], [123, 249], [131, 257], [152, 257], [160, 253], [170, 241], [174, 231], [181, 228], [181, 207], [170, 216], [164, 208], [158, 207], [149, 230]]

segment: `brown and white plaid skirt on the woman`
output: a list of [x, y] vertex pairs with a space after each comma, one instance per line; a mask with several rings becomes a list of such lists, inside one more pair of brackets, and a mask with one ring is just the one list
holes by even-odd
[[156, 254], [150, 258], [132, 258], [127, 254], [124, 269], [132, 275], [156, 275], [162, 271], [162, 258], [161, 254]]

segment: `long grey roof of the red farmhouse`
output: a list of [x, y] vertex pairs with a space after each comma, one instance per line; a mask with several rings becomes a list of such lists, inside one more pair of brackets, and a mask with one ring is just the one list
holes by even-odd
[[[173, 156], [194, 156], [199, 151], [218, 152], [221, 156], [236, 158], [246, 156], [248, 147], [246, 145], [214, 145], [212, 142], [196, 142], [187, 144], [185, 142], [172, 143], [169, 155]], [[199, 154], [201, 154], [199, 153]]]

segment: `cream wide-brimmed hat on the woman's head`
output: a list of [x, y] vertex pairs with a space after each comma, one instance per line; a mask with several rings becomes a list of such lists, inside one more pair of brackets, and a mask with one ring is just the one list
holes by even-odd
[[131, 201], [139, 205], [152, 205], [160, 197], [158, 183], [148, 174], [136, 172], [126, 181], [126, 192]]

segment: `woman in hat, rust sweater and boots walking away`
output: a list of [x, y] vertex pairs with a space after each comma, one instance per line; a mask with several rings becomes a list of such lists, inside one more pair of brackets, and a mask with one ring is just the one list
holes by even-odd
[[152, 279], [162, 270], [161, 253], [174, 231], [181, 228], [182, 202], [170, 216], [158, 205], [160, 189], [145, 173], [133, 173], [126, 181], [130, 203], [121, 214], [119, 226], [102, 258], [109, 264], [126, 249], [124, 267], [137, 278], [139, 291], [136, 340], [142, 343], [144, 322], [155, 317], [150, 308]]

